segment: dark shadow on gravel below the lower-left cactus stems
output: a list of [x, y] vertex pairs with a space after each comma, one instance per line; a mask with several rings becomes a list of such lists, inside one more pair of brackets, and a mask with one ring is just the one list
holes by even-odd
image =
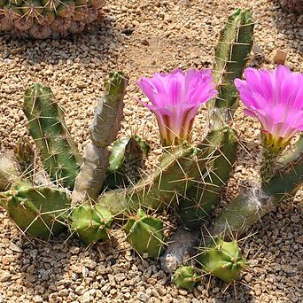
[[68, 298], [70, 288], [81, 297], [84, 287], [77, 286], [93, 284], [118, 261], [120, 253], [114, 239], [88, 248], [78, 239], [67, 239], [69, 236], [63, 233], [49, 243], [21, 234], [12, 239], [12, 247], [19, 249], [14, 270], [19, 272], [19, 284], [27, 289], [24, 298], [20, 294], [20, 302], [26, 301], [29, 293], [35, 302], [59, 302]]

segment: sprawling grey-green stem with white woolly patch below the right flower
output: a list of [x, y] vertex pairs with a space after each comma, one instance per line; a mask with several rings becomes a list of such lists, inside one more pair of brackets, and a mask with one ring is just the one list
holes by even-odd
[[[293, 159], [294, 156], [296, 159]], [[303, 183], [303, 144], [299, 140], [291, 156], [282, 157], [284, 167], [261, 187], [243, 190], [221, 211], [210, 229], [213, 236], [240, 235], [285, 198], [293, 197]], [[231, 233], [231, 234], [230, 234]]]

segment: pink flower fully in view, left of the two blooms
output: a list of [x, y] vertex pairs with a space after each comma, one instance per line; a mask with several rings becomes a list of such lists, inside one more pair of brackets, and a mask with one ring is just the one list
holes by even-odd
[[213, 98], [213, 77], [210, 70], [175, 69], [169, 74], [153, 74], [137, 82], [151, 104], [138, 100], [155, 113], [164, 146], [190, 141], [190, 133], [198, 108]]

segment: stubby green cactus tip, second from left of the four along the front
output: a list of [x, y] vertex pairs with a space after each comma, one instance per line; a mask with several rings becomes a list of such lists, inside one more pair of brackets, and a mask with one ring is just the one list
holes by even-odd
[[152, 259], [158, 259], [164, 253], [163, 222], [144, 213], [142, 209], [130, 216], [124, 225], [127, 240], [137, 253], [148, 253]]

